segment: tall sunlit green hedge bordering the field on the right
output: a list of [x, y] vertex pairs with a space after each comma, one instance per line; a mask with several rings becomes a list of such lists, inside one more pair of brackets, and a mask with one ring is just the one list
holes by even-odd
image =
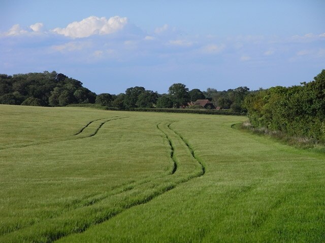
[[251, 92], [243, 106], [255, 128], [325, 143], [325, 69], [300, 86]]

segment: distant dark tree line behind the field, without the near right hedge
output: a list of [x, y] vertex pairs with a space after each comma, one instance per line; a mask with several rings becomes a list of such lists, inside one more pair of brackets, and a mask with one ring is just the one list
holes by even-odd
[[79, 80], [55, 71], [27, 74], [0, 74], [0, 104], [66, 106], [69, 104], [96, 103], [119, 109], [130, 108], [203, 108], [191, 106], [199, 99], [210, 100], [215, 107], [245, 112], [243, 106], [247, 87], [228, 91], [208, 88], [189, 90], [181, 83], [169, 87], [168, 93], [158, 94], [144, 87], [132, 87], [118, 95], [95, 94], [84, 88]]

